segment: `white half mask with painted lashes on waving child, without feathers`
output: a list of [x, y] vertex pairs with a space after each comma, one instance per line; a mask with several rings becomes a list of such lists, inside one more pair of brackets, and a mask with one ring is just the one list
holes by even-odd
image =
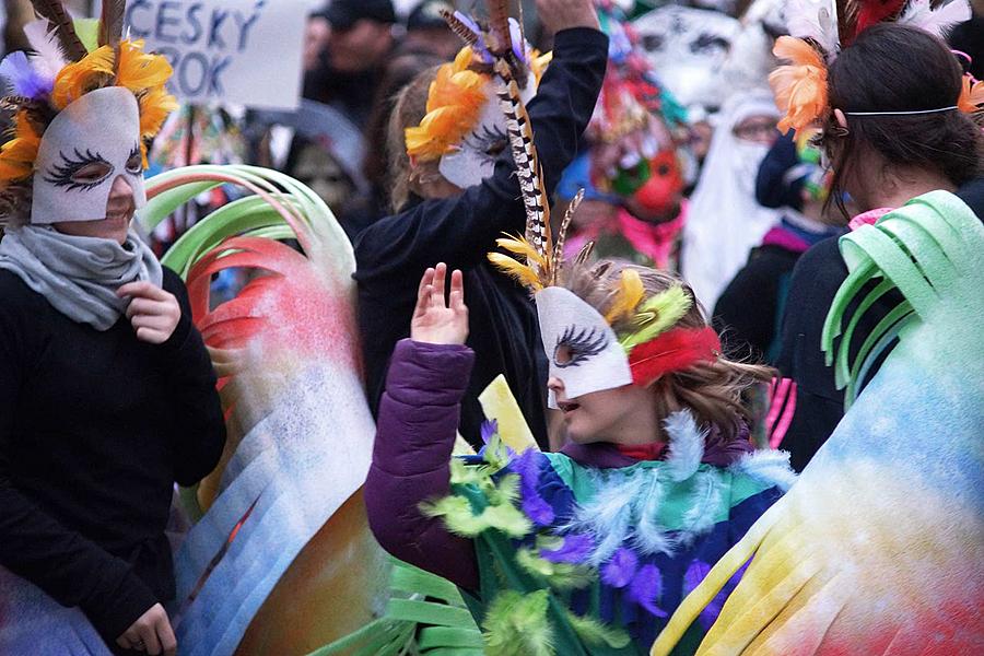
[[[550, 376], [563, 382], [569, 399], [632, 383], [629, 358], [598, 311], [558, 286], [537, 292], [535, 298]], [[559, 359], [561, 347], [565, 358]], [[552, 391], [548, 401], [557, 408]]]

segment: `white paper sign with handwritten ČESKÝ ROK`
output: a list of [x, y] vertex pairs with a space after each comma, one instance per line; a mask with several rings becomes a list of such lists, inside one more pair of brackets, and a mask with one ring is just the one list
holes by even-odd
[[130, 0], [130, 38], [167, 57], [189, 103], [296, 109], [305, 0]]

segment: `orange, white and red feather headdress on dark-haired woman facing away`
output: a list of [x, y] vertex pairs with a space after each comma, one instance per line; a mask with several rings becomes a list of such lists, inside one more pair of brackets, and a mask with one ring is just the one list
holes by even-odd
[[[769, 75], [785, 113], [778, 124], [783, 133], [801, 130], [831, 112], [827, 68], [871, 25], [897, 21], [942, 37], [971, 17], [967, 0], [790, 0], [785, 12], [790, 36], [781, 36], [773, 54], [789, 63]], [[968, 75], [964, 87], [958, 106], [975, 112], [984, 102], [984, 84]]]

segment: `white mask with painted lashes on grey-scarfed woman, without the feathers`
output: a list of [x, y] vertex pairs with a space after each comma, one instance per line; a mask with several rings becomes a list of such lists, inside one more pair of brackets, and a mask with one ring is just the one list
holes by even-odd
[[97, 89], [62, 109], [42, 137], [31, 223], [105, 219], [119, 176], [133, 189], [134, 207], [147, 204], [137, 98], [121, 86]]

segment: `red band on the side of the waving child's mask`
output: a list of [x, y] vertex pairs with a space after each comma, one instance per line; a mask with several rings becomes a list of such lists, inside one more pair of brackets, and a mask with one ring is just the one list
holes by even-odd
[[714, 362], [719, 354], [721, 340], [713, 328], [675, 328], [632, 349], [632, 383], [645, 387], [664, 374]]

